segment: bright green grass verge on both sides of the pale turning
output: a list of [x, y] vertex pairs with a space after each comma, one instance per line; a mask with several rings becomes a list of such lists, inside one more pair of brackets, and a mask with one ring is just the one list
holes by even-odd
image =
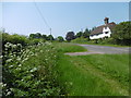
[[[61, 47], [60, 47], [61, 46]], [[70, 46], [70, 47], [69, 47]], [[128, 54], [64, 56], [85, 51], [80, 46], [56, 44], [60, 85], [68, 96], [126, 96], [129, 87]], [[79, 50], [80, 48], [80, 50]]]

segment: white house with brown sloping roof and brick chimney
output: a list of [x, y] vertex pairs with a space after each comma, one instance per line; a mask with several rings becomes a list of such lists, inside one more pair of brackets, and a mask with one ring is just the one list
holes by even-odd
[[116, 26], [116, 23], [108, 23], [108, 17], [105, 17], [105, 24], [96, 27], [94, 30], [91, 32], [90, 39], [110, 37], [111, 30]]

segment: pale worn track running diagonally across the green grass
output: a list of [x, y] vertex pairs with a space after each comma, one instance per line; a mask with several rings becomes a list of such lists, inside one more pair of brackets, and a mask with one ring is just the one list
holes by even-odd
[[112, 78], [109, 74], [94, 68], [92, 64], [87, 63], [87, 61], [83, 60], [82, 58], [73, 58], [72, 63], [76, 65], [78, 69], [82, 69], [84, 73], [91, 73], [93, 76], [96, 76], [104, 83], [108, 84], [114, 93], [118, 91], [120, 95], [128, 95], [128, 90], [124, 87], [124, 85], [120, 84], [116, 78]]

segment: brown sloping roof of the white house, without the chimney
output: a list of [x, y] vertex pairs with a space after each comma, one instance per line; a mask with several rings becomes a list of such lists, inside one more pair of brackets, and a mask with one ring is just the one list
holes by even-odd
[[115, 26], [116, 26], [115, 22], [111, 22], [111, 23], [108, 23], [105, 25], [100, 25], [100, 26], [96, 27], [94, 30], [92, 30], [91, 35], [102, 34], [104, 27], [109, 27], [110, 29], [112, 29]]

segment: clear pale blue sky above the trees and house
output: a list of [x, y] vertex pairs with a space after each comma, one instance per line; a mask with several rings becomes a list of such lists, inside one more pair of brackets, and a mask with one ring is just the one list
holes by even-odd
[[47, 24], [39, 14], [34, 2], [2, 3], [2, 25], [10, 34], [29, 35], [41, 33], [66, 36], [104, 24], [105, 16], [109, 22], [120, 23], [129, 20], [128, 2], [36, 2]]

